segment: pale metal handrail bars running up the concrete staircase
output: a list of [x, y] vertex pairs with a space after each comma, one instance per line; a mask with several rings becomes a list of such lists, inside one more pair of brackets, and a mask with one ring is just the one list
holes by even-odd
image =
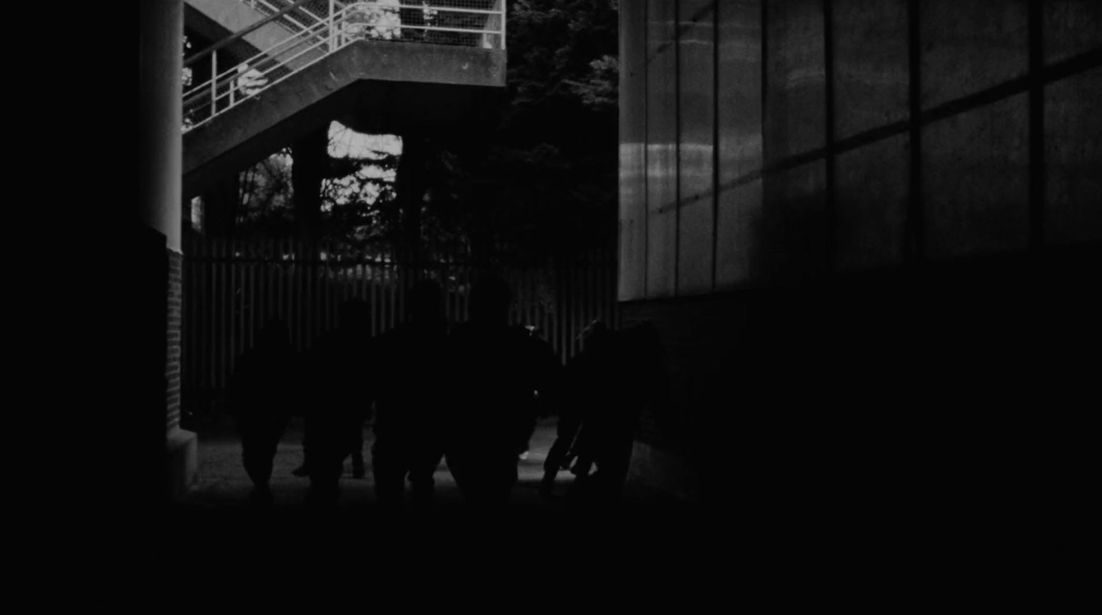
[[[255, 0], [241, 0], [248, 2], [252, 6]], [[483, 10], [483, 9], [463, 9], [453, 7], [408, 7], [408, 8], [420, 8], [426, 11], [433, 11], [436, 13], [473, 13], [473, 14], [486, 14], [486, 15], [500, 15], [501, 21], [499, 30], [489, 29], [465, 29], [465, 28], [450, 28], [450, 26], [439, 26], [439, 25], [411, 25], [411, 24], [390, 24], [390, 23], [372, 23], [370, 21], [358, 21], [357, 18], [364, 17], [365, 13], [369, 15], [382, 15], [382, 14], [393, 14], [397, 13], [403, 4], [388, 6], [378, 4], [376, 2], [350, 2], [343, 4], [336, 2], [335, 0], [329, 0], [329, 15], [326, 19], [320, 19], [313, 25], [305, 28], [303, 31], [292, 34], [291, 36], [271, 45], [269, 48], [249, 57], [248, 60], [235, 64], [233, 67], [227, 68], [223, 72], [218, 72], [217, 67], [217, 56], [214, 52], [222, 48], [235, 40], [240, 39], [248, 32], [255, 31], [262, 23], [270, 23], [276, 18], [281, 14], [285, 14], [291, 9], [300, 7], [307, 0], [299, 0], [290, 7], [281, 10], [280, 12], [261, 20], [257, 24], [252, 24], [249, 28], [234, 34], [233, 36], [219, 42], [216, 45], [212, 45], [207, 50], [204, 50], [198, 55], [209, 55], [212, 63], [212, 76], [207, 80], [198, 84], [187, 91], [184, 93], [184, 106], [185, 111], [188, 111], [188, 107], [192, 107], [196, 101], [201, 102], [196, 106], [196, 109], [202, 109], [204, 106], [209, 105], [210, 112], [203, 119], [194, 123], [191, 127], [186, 127], [185, 130], [194, 129], [202, 126], [220, 114], [229, 110], [230, 108], [248, 100], [261, 91], [281, 83], [283, 79], [290, 77], [291, 75], [315, 64], [316, 62], [327, 57], [328, 55], [344, 48], [345, 46], [352, 44], [354, 41], [365, 37], [366, 32], [371, 31], [392, 31], [401, 32], [403, 30], [412, 31], [439, 31], [439, 32], [457, 32], [464, 34], [475, 34], [475, 35], [494, 35], [499, 37], [499, 42], [494, 44], [500, 48], [505, 48], [505, 2], [500, 3], [500, 10]], [[269, 9], [274, 9], [273, 6], [266, 2], [266, 0], [260, 0], [260, 3], [267, 6]], [[337, 9], [337, 7], [341, 7]], [[366, 11], [365, 11], [366, 10]], [[485, 41], [485, 39], [484, 39]], [[324, 47], [324, 48], [322, 48]], [[300, 66], [292, 67], [290, 64], [295, 60], [322, 48], [317, 57], [305, 62]], [[287, 57], [287, 54], [292, 54]], [[193, 63], [197, 57], [193, 56], [190, 58], [188, 63]], [[260, 71], [259, 67], [267, 64], [271, 66]], [[250, 69], [251, 68], [251, 69]], [[279, 76], [273, 80], [268, 80], [269, 77], [274, 76], [277, 71], [287, 71], [285, 75]], [[255, 87], [248, 85], [242, 85], [241, 80], [245, 75], [249, 78], [256, 79], [257, 82], [262, 82]], [[220, 91], [225, 90], [225, 91]], [[242, 91], [244, 90], [244, 91]], [[220, 94], [219, 94], [220, 91]], [[235, 96], [236, 95], [236, 96]], [[219, 105], [225, 98], [229, 98], [229, 104], [224, 108], [219, 109]]]

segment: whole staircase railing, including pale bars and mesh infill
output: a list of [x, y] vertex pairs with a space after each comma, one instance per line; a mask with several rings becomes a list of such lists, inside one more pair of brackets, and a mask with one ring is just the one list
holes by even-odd
[[[208, 63], [205, 74], [210, 75], [184, 93], [185, 130], [210, 121], [356, 41], [505, 48], [505, 0], [239, 1], [258, 12], [258, 21], [185, 63], [188, 67]], [[218, 65], [220, 45], [270, 24], [279, 25], [287, 36], [244, 62]]]

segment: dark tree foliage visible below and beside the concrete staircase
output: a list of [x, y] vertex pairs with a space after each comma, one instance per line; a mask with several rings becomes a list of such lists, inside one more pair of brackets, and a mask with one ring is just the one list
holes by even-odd
[[[499, 121], [480, 142], [431, 144], [422, 233], [536, 259], [615, 244], [617, 2], [510, 0], [508, 14]], [[277, 154], [241, 174], [240, 226], [292, 223], [289, 163]], [[321, 186], [328, 238], [364, 249], [400, 236], [397, 163], [386, 152], [331, 159]]]

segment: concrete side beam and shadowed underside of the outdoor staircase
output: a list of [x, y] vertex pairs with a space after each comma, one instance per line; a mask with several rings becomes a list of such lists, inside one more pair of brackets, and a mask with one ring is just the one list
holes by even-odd
[[477, 136], [505, 85], [505, 53], [357, 41], [184, 134], [184, 198], [338, 120], [360, 132]]

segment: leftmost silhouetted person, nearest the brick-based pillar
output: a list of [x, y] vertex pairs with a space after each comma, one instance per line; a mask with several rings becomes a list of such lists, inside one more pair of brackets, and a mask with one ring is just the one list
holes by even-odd
[[230, 412], [241, 436], [241, 460], [252, 481], [252, 500], [269, 504], [276, 449], [296, 410], [298, 355], [287, 325], [269, 321], [246, 352], [229, 386]]

